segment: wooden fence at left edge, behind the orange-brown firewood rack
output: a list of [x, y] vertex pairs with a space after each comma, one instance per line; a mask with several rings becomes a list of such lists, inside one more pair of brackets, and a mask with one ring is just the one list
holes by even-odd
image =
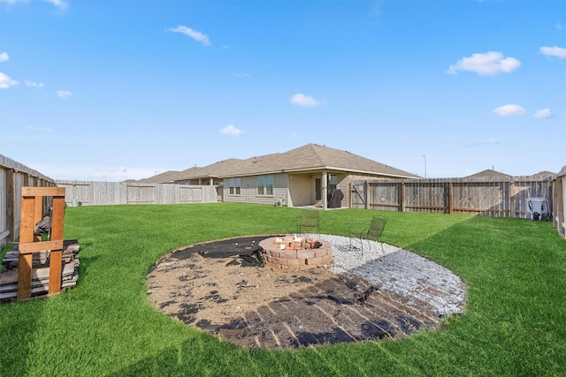
[[[0, 246], [19, 237], [21, 188], [53, 187], [55, 181], [19, 162], [0, 155]], [[42, 200], [42, 210], [51, 207], [51, 198]]]

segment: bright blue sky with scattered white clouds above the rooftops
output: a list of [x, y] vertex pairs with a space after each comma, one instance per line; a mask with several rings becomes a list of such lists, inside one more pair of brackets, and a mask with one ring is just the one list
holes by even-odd
[[0, 154], [119, 181], [308, 143], [566, 165], [566, 2], [0, 1]]

